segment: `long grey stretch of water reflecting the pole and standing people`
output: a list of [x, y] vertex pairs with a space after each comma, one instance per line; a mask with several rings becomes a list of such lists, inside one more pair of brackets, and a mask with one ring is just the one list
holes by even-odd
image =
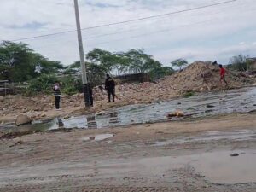
[[[155, 102], [148, 105], [137, 104], [108, 111], [101, 115], [54, 119], [47, 123], [27, 125], [25, 129], [52, 130], [64, 128], [109, 128], [124, 125], [160, 122], [166, 114], [176, 109], [182, 110], [192, 118], [218, 113], [250, 112], [255, 110], [256, 87], [224, 92], [202, 93], [189, 98], [180, 98], [169, 102]], [[207, 108], [211, 106], [211, 108]], [[178, 119], [172, 119], [178, 120]], [[9, 129], [9, 128], [8, 128]], [[23, 129], [19, 127], [19, 129]], [[0, 127], [1, 130], [1, 127]]]

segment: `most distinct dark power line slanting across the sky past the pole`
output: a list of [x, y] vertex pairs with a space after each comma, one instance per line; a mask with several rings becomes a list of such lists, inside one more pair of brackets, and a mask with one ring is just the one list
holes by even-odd
[[[226, 3], [232, 3], [232, 2], [236, 2], [236, 1], [237, 0], [229, 0], [229, 1], [220, 2], [220, 3], [212, 3], [212, 4], [208, 4], [208, 5], [204, 5], [204, 6], [200, 6], [200, 7], [196, 7], [196, 8], [183, 9], [183, 10], [174, 11], [174, 12], [161, 14], [161, 15], [152, 15], [152, 16], [142, 17], [142, 18], [138, 18], [138, 19], [134, 19], [134, 20], [124, 20], [124, 21], [120, 21], [120, 22], [108, 23], [108, 24], [103, 24], [103, 25], [99, 25], [99, 26], [85, 27], [85, 28], [82, 28], [81, 30], [85, 31], [85, 30], [101, 28], [104, 26], [115, 26], [115, 25], [120, 25], [120, 24], [127, 24], [127, 23], [131, 23], [131, 22], [139, 21], [139, 20], [150, 20], [150, 19], [154, 19], [154, 18], [158, 18], [158, 17], [167, 16], [167, 15], [175, 15], [175, 14], [180, 14], [180, 13], [184, 13], [184, 12], [189, 12], [189, 11], [193, 11], [193, 10], [197, 10], [197, 9], [206, 9], [206, 8], [210, 8], [210, 7], [214, 7], [214, 6], [218, 6], [218, 5], [226, 4]], [[61, 35], [61, 34], [65, 34], [65, 33], [69, 33], [69, 32], [76, 32], [76, 31], [77, 30], [54, 32], [54, 33], [49, 33], [49, 34], [45, 34], [45, 35], [33, 36], [33, 37], [29, 37], [29, 38], [17, 38], [17, 39], [11, 40], [11, 41], [15, 42], [15, 41], [35, 39], [35, 38], [45, 38], [45, 37], [49, 37], [49, 36]]]

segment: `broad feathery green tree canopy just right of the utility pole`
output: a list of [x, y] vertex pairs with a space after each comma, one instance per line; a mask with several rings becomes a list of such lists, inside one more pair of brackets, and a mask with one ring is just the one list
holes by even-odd
[[101, 67], [104, 73], [150, 73], [153, 78], [173, 73], [171, 67], [162, 67], [143, 49], [130, 49], [127, 52], [111, 53], [102, 49], [93, 49], [86, 55], [87, 60]]

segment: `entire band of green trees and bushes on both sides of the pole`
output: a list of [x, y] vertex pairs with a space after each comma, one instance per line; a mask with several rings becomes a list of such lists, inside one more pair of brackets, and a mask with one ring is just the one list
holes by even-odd
[[[88, 79], [93, 86], [102, 84], [106, 73], [122, 75], [127, 73], [148, 73], [151, 78], [162, 78], [174, 73], [172, 67], [154, 60], [143, 49], [130, 49], [127, 52], [112, 53], [103, 49], [93, 49], [87, 55]], [[61, 91], [72, 95], [83, 90], [80, 62], [64, 67], [61, 62], [49, 61], [34, 52], [27, 44], [3, 41], [0, 44], [0, 80], [27, 82], [23, 91], [26, 96], [38, 92], [52, 93], [56, 80], [61, 82]]]

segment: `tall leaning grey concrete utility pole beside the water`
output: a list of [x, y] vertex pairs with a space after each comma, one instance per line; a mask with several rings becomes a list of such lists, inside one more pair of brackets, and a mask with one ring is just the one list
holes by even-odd
[[83, 80], [83, 88], [84, 88], [84, 102], [85, 102], [85, 107], [90, 107], [88, 82], [87, 82], [86, 67], [85, 67], [85, 61], [84, 61], [84, 47], [83, 47], [83, 39], [82, 39], [80, 19], [79, 19], [78, 0], [74, 0], [74, 8], [75, 8], [75, 14], [76, 14], [77, 31], [78, 31], [78, 39], [79, 39], [80, 64], [82, 69], [82, 80]]

